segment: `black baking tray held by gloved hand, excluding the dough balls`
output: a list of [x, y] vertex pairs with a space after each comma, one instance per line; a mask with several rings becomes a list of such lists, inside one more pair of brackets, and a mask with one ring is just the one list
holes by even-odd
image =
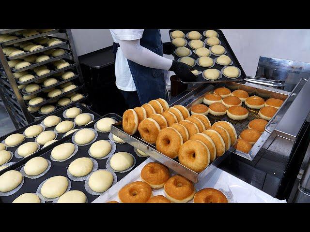
[[[170, 40], [171, 40], [171, 41], [172, 41], [172, 38], [171, 38], [170, 34], [171, 34], [171, 32], [174, 31], [174, 30], [177, 30], [177, 29], [171, 29], [171, 30], [169, 30], [169, 37], [170, 37]], [[207, 37], [203, 35], [203, 31], [208, 30], [208, 29], [179, 29], [179, 30], [183, 31], [183, 33], [184, 33], [185, 35], [186, 35], [188, 32], [190, 32], [190, 31], [196, 30], [196, 31], [198, 31], [199, 33], [202, 34], [202, 39], [200, 39], [200, 40], [201, 40], [203, 43], [204, 43], [204, 40], [207, 39]], [[202, 73], [201, 73], [201, 74], [197, 75], [197, 78], [196, 78], [195, 81], [192, 81], [192, 82], [184, 82], [184, 81], [180, 80], [182, 83], [184, 83], [184, 84], [197, 84], [197, 83], [217, 83], [217, 82], [239, 82], [239, 81], [245, 80], [245, 78], [247, 77], [247, 75], [246, 75], [246, 73], [244, 72], [244, 70], [242, 69], [242, 67], [241, 67], [241, 65], [240, 65], [240, 63], [239, 63], [237, 57], [236, 57], [235, 54], [233, 53], [233, 49], [231, 48], [231, 46], [229, 45], [228, 41], [226, 40], [226, 38], [225, 38], [223, 32], [222, 32], [221, 30], [219, 30], [219, 29], [213, 29], [213, 30], [215, 30], [215, 31], [217, 32], [217, 34], [219, 35], [219, 36], [218, 36], [218, 39], [221, 41], [221, 44], [220, 44], [220, 45], [222, 45], [222, 46], [225, 48], [225, 50], [226, 50], [226, 54], [225, 54], [225, 55], [226, 55], [226, 56], [229, 56], [229, 57], [232, 59], [233, 64], [232, 64], [231, 66], [235, 66], [235, 67], [239, 68], [240, 71], [241, 71], [241, 75], [240, 75], [238, 78], [236, 78], [236, 79], [232, 79], [232, 78], [227, 78], [226, 76], [224, 76], [224, 74], [222, 74], [222, 78], [212, 81], [212, 80], [206, 80], [206, 79], [204, 79], [204, 78], [202, 77]], [[187, 37], [185, 37], [184, 39], [187, 41], [187, 44], [186, 44], [185, 47], [187, 47], [187, 48], [188, 48], [189, 50], [191, 50], [191, 52], [192, 52], [192, 55], [189, 56], [189, 57], [194, 58], [195, 60], [197, 60], [197, 59], [199, 58], [199, 56], [197, 56], [196, 53], [194, 53], [194, 49], [191, 48], [191, 47], [189, 46], [189, 41], [190, 41], [190, 40], [189, 40]], [[208, 44], [205, 43], [205, 47], [209, 49], [210, 46], [209, 46]], [[175, 51], [175, 49], [176, 49], [176, 47], [174, 47], [173, 51]], [[180, 57], [177, 56], [174, 52], [172, 53], [172, 55], [173, 55], [173, 57], [174, 57], [175, 60], [178, 60], [178, 59], [180, 58]], [[214, 60], [214, 59], [217, 58], [218, 56], [215, 56], [215, 55], [211, 54], [209, 57], [212, 58], [212, 59]], [[217, 69], [217, 70], [221, 71], [222, 68], [224, 67], [223, 65], [217, 64], [216, 62], [214, 62], [214, 63], [215, 63], [215, 65], [214, 65], [212, 68], [205, 68], [205, 67], [199, 66], [198, 64], [196, 64], [193, 68], [196, 69], [196, 70], [198, 70], [198, 71], [203, 72], [203, 71], [206, 70], [206, 69]]]

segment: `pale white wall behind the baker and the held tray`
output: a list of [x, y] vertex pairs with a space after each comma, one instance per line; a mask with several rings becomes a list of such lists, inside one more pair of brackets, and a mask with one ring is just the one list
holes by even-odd
[[[163, 42], [169, 29], [161, 29]], [[260, 56], [310, 63], [310, 29], [222, 29], [249, 76], [256, 73]], [[72, 29], [78, 55], [112, 45], [109, 29]], [[172, 56], [168, 56], [172, 58]]]

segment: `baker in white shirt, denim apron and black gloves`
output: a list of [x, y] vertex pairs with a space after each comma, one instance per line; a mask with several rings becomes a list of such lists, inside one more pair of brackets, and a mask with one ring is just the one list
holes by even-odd
[[115, 54], [116, 86], [133, 109], [153, 99], [165, 99], [163, 70], [173, 71], [181, 80], [196, 76], [192, 67], [163, 57], [171, 55], [171, 43], [162, 43], [159, 29], [110, 29]]

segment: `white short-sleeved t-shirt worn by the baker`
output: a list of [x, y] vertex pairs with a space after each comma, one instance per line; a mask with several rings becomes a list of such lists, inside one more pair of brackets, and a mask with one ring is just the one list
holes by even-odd
[[[144, 29], [110, 29], [115, 43], [119, 40], [139, 40], [142, 38]], [[116, 86], [124, 91], [136, 91], [137, 88], [132, 78], [128, 61], [124, 57], [122, 49], [118, 47], [115, 58]]]

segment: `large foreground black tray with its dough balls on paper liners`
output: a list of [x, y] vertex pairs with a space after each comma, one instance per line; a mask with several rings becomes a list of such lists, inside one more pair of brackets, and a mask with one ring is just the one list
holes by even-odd
[[[120, 120], [116, 114], [103, 116], [51, 149], [19, 162], [11, 174], [0, 176], [2, 202], [28, 201], [25, 193], [37, 202], [38, 198], [46, 203], [93, 202], [147, 159], [110, 134], [110, 125]], [[4, 177], [16, 182], [8, 183]]]

